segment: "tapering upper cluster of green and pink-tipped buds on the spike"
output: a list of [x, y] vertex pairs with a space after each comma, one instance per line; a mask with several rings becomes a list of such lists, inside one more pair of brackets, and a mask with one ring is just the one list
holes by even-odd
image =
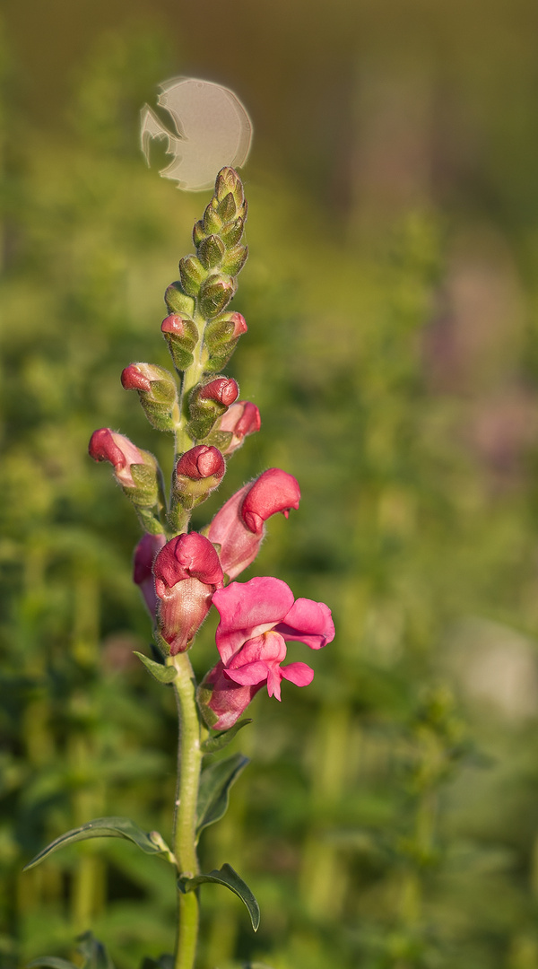
[[225, 458], [259, 429], [255, 405], [239, 400], [237, 383], [221, 373], [247, 330], [241, 313], [226, 311], [248, 255], [242, 242], [246, 217], [241, 180], [225, 168], [194, 225], [196, 252], [180, 261], [180, 278], [164, 294], [161, 330], [175, 373], [145, 362], [131, 363], [122, 373], [123, 387], [137, 392], [148, 421], [174, 435], [169, 503], [152, 454], [109, 428], [96, 431], [90, 442], [90, 454], [112, 464], [151, 535], [170, 538], [186, 531], [194, 507], [221, 483]]

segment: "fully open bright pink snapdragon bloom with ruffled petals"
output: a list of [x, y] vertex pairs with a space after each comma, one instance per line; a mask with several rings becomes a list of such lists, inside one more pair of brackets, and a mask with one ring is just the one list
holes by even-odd
[[264, 685], [281, 700], [281, 682], [308, 686], [314, 671], [306, 663], [285, 659], [285, 641], [320, 649], [334, 639], [331, 611], [311, 599], [293, 600], [280, 578], [252, 578], [218, 590], [213, 603], [221, 621], [217, 648], [221, 660], [198, 688], [198, 705], [209, 727], [228, 730]]

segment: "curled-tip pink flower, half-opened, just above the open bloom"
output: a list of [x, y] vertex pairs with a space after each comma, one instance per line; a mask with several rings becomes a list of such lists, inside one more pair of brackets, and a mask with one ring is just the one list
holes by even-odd
[[265, 534], [267, 518], [299, 508], [301, 490], [293, 475], [269, 468], [254, 482], [244, 485], [225, 502], [213, 518], [207, 537], [220, 546], [224, 573], [235, 578], [254, 562]]

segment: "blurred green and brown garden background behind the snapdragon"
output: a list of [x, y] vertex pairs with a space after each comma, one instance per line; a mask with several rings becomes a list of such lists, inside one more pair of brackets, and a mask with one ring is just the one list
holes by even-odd
[[[174, 75], [254, 119], [228, 368], [262, 430], [198, 522], [282, 466], [299, 513], [243, 578], [332, 608], [314, 683], [261, 695], [203, 862], [200, 969], [538, 969], [538, 8], [531, 0], [5, 0], [1, 40], [0, 965], [173, 945], [175, 716], [133, 648], [134, 513], [87, 457], [158, 453], [119, 374], [167, 365], [165, 286], [210, 193], [147, 170]], [[215, 661], [213, 622], [193, 654]], [[208, 869], [206, 869], [208, 870]]]

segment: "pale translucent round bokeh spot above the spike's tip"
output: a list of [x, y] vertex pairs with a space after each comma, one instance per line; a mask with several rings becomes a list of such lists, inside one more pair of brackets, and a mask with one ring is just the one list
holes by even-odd
[[167, 141], [172, 161], [161, 174], [190, 192], [211, 188], [224, 166], [247, 161], [253, 125], [239, 98], [227, 87], [197, 78], [172, 78], [160, 85], [158, 104], [173, 121], [169, 131], [148, 105], [141, 111], [140, 143], [148, 165], [153, 139]]

